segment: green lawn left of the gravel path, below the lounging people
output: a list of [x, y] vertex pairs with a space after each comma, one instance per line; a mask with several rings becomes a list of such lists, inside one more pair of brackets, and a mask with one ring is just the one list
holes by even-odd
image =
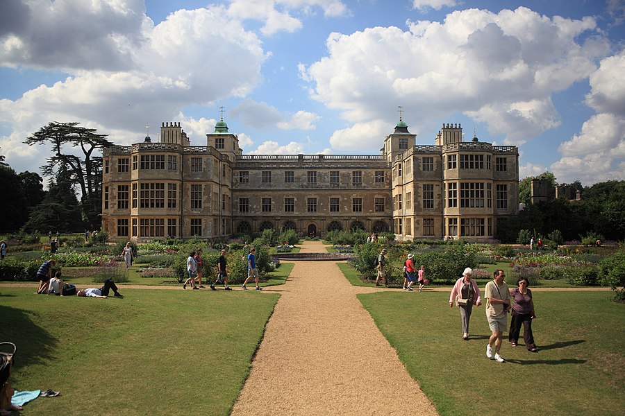
[[124, 299], [0, 289], [24, 415], [228, 415], [277, 294], [126, 289]]

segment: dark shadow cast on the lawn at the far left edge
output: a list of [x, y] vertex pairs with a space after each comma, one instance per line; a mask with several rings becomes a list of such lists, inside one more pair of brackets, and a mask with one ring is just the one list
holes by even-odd
[[57, 340], [37, 324], [38, 315], [31, 311], [0, 306], [0, 341], [17, 346], [15, 370], [35, 363], [47, 363], [56, 348]]

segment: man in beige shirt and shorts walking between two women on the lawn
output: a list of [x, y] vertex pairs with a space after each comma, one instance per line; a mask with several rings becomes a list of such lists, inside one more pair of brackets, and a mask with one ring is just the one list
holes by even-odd
[[499, 363], [506, 360], [499, 355], [503, 331], [508, 327], [508, 310], [510, 309], [510, 291], [503, 278], [506, 275], [503, 270], [494, 271], [494, 279], [486, 284], [484, 296], [486, 297], [486, 319], [492, 335], [486, 345], [486, 356], [492, 358], [492, 345], [495, 347], [494, 359]]

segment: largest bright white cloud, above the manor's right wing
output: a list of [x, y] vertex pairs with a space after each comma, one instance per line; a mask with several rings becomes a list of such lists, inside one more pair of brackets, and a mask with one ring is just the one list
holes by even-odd
[[590, 76], [609, 51], [594, 18], [550, 19], [522, 7], [461, 10], [443, 23], [408, 26], [329, 35], [328, 55], [299, 66], [310, 96], [351, 123], [396, 119], [403, 105], [415, 130], [462, 112], [506, 144], [522, 144], [560, 123], [551, 96]]

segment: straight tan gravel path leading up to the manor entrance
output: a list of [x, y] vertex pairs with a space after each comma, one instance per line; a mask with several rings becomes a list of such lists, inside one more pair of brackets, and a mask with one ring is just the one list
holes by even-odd
[[294, 263], [232, 415], [436, 415], [338, 266]]

